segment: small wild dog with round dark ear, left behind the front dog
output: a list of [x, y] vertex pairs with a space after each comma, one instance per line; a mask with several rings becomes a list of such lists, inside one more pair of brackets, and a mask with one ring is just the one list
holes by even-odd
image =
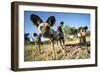
[[35, 48], [41, 53], [41, 34], [34, 33], [33, 36], [35, 37]]

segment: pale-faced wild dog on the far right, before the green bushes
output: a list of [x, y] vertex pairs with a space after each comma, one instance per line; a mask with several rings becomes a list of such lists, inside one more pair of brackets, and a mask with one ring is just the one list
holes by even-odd
[[86, 34], [87, 34], [87, 30], [88, 27], [79, 27], [79, 29], [77, 30], [77, 36], [79, 38], [79, 43], [81, 45], [85, 45], [86, 44]]

